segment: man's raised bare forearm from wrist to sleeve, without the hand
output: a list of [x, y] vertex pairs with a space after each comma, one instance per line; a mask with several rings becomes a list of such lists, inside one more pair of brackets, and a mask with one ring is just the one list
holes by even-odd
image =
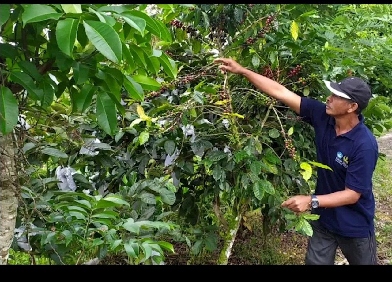
[[293, 111], [299, 114], [299, 107], [301, 105], [301, 97], [297, 94], [291, 92], [285, 86], [279, 84], [278, 82], [269, 79], [255, 73], [254, 71], [245, 69], [241, 73], [244, 77], [249, 80], [254, 86], [256, 86], [263, 93], [275, 98], [276, 100], [281, 100], [283, 103], [288, 105]]

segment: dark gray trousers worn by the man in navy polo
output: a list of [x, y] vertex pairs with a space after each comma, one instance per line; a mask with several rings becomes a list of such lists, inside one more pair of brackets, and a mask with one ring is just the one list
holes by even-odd
[[334, 264], [338, 246], [349, 264], [377, 264], [376, 236], [343, 237], [311, 221], [313, 237], [309, 237], [305, 264]]

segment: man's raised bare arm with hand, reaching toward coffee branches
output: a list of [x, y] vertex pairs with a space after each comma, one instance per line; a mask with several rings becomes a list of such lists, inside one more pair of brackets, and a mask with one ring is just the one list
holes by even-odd
[[272, 98], [275, 98], [276, 100], [281, 100], [284, 104], [288, 105], [294, 112], [299, 114], [301, 97], [291, 92], [283, 85], [272, 79], [259, 75], [254, 71], [244, 68], [233, 59], [218, 58], [214, 60], [214, 63], [222, 63], [222, 65], [219, 66], [222, 73], [224, 73], [224, 71], [230, 71], [231, 73], [243, 75], [260, 91], [271, 96]]

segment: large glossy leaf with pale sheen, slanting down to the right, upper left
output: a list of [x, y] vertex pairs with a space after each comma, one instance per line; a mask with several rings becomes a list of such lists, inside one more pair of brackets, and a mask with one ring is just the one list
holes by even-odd
[[87, 37], [102, 55], [119, 64], [122, 58], [122, 45], [117, 32], [107, 23], [83, 21]]

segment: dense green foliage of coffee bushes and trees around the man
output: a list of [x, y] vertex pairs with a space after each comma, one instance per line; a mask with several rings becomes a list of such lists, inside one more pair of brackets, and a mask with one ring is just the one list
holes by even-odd
[[323, 79], [360, 76], [374, 93], [365, 123], [380, 134], [392, 127], [389, 6], [146, 7], [0, 5], [0, 130], [13, 136], [20, 188], [13, 247], [57, 264], [118, 252], [160, 264], [174, 241], [215, 250], [259, 207], [265, 232], [311, 236], [317, 216], [280, 204], [314, 189], [315, 166], [329, 169], [314, 162], [312, 128], [212, 59], [321, 100]]

